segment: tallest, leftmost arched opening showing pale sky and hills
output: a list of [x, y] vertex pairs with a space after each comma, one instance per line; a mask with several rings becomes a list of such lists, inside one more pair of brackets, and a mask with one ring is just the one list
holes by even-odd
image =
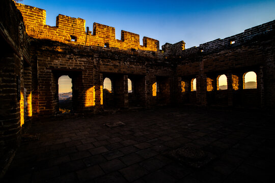
[[72, 109], [72, 79], [63, 75], [58, 79], [59, 111], [70, 112]]

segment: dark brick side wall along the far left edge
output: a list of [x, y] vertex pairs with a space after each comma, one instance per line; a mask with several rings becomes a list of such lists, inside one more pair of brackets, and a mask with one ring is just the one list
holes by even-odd
[[[13, 1], [0, 6], [0, 179], [30, 121], [29, 40], [23, 18]], [[29, 100], [28, 100], [29, 99]]]

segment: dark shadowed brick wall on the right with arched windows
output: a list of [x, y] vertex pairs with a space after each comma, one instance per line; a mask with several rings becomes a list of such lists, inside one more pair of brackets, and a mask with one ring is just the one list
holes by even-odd
[[[204, 43], [200, 47], [189, 48], [180, 55], [174, 55], [178, 62], [178, 76], [188, 82], [195, 77], [199, 81], [197, 104], [274, 107], [274, 86], [271, 81], [275, 78], [274, 22], [267, 22], [241, 34]], [[230, 44], [232, 41], [235, 43]], [[257, 74], [257, 89], [254, 91], [242, 87], [243, 75], [249, 71]], [[227, 75], [227, 90], [217, 90], [217, 77], [222, 74]], [[213, 90], [207, 90], [210, 87], [207, 85], [207, 78], [215, 81], [212, 82]], [[189, 101], [185, 99], [184, 102]]]

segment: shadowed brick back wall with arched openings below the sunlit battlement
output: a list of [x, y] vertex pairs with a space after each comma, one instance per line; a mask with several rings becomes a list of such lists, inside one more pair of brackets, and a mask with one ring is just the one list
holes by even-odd
[[[149, 52], [104, 47], [75, 49], [75, 46], [64, 43], [37, 39], [33, 39], [31, 43], [32, 55], [36, 56], [37, 63], [36, 73], [33, 73], [33, 80], [37, 78], [37, 82], [34, 82], [33, 87], [37, 88], [38, 94], [38, 103], [33, 104], [33, 109], [36, 109], [36, 114], [40, 116], [53, 115], [59, 111], [57, 84], [58, 78], [62, 75], [72, 78], [73, 110], [77, 112], [97, 111], [104, 105], [106, 108], [110, 107], [104, 103], [105, 97], [112, 98], [106, 101], [112, 103], [111, 107], [128, 108], [128, 77], [135, 87], [133, 95], [136, 97], [136, 103], [132, 104], [143, 107], [156, 105], [156, 98], [151, 101], [150, 83], [153, 81], [150, 81], [150, 77], [174, 77], [171, 64]], [[112, 80], [113, 91], [112, 94], [102, 97], [101, 88], [105, 77]], [[162, 104], [172, 102], [172, 83], [167, 81], [167, 88], [161, 89], [164, 101]]]

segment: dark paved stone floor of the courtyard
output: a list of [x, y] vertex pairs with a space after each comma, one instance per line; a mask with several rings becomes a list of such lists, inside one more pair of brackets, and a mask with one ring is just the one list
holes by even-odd
[[[3, 182], [271, 182], [274, 126], [270, 113], [194, 107], [36, 121], [40, 140], [21, 144]], [[192, 168], [166, 155], [182, 146], [216, 158]]]

